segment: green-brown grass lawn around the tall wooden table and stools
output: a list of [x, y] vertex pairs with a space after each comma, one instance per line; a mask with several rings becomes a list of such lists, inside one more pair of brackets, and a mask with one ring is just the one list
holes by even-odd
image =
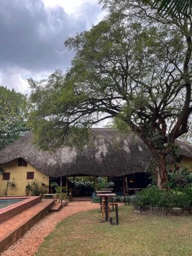
[[119, 226], [91, 210], [58, 223], [35, 255], [192, 255], [192, 216], [134, 214], [119, 208]]

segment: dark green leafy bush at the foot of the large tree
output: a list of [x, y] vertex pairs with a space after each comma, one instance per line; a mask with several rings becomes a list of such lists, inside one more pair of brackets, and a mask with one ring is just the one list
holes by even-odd
[[132, 204], [140, 207], [192, 207], [192, 186], [188, 184], [168, 191], [150, 186], [136, 193]]

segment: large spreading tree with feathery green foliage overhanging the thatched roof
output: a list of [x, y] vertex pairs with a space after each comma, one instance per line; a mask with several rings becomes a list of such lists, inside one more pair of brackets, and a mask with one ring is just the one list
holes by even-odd
[[165, 156], [175, 154], [192, 111], [190, 18], [167, 19], [138, 1], [104, 2], [110, 15], [66, 41], [76, 53], [70, 70], [29, 81], [35, 141], [46, 150], [75, 143], [116, 118], [150, 148], [164, 187]]

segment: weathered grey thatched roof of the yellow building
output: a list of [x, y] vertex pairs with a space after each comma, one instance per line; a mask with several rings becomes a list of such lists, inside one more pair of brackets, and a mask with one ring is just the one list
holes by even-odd
[[[0, 151], [0, 164], [23, 158], [51, 177], [61, 174], [123, 176], [147, 172], [151, 153], [140, 138], [121, 135], [114, 129], [93, 129], [93, 132], [93, 141], [83, 151], [62, 147], [53, 154], [34, 147], [31, 144], [32, 134], [29, 133]], [[180, 155], [192, 157], [192, 147], [179, 143]]]

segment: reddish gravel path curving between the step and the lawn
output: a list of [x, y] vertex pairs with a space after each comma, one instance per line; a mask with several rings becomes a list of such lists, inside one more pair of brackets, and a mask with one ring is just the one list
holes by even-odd
[[99, 204], [91, 202], [70, 202], [67, 207], [61, 208], [58, 212], [48, 214], [37, 222], [27, 233], [17, 242], [4, 251], [2, 256], [24, 256], [33, 255], [44, 238], [55, 228], [62, 219], [67, 218], [76, 212], [99, 208]]

